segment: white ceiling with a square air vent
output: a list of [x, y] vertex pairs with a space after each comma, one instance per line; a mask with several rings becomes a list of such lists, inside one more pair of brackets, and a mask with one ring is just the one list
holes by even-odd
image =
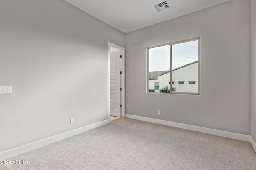
[[157, 12], [152, 5], [164, 0], [65, 0], [99, 20], [128, 33], [230, 0], [167, 0], [171, 6]]

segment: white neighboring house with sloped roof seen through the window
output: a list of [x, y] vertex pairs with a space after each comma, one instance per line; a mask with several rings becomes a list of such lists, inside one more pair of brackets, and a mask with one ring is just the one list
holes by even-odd
[[198, 61], [173, 69], [172, 81], [169, 70], [149, 72], [148, 77], [149, 92], [166, 92], [162, 89], [168, 86], [173, 92], [198, 93]]

